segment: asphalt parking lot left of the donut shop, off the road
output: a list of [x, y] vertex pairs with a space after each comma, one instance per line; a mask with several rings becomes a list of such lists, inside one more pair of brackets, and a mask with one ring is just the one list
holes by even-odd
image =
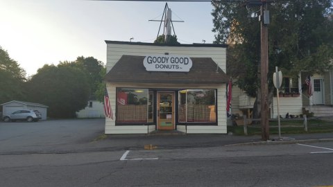
[[37, 123], [0, 123], [0, 154], [71, 152], [94, 147], [103, 134], [105, 119], [70, 119]]

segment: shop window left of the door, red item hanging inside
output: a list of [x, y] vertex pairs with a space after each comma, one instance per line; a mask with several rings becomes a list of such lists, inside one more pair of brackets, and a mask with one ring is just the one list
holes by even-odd
[[117, 89], [117, 122], [147, 122], [148, 89]]

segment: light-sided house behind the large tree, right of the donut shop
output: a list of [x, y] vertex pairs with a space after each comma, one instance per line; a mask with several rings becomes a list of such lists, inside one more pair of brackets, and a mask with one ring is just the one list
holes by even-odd
[[[283, 74], [283, 72], [282, 72]], [[310, 77], [311, 96], [307, 93], [305, 79], [308, 73], [300, 72], [298, 78], [284, 77], [280, 89], [280, 116], [285, 118], [286, 114], [299, 116], [300, 114], [314, 113], [314, 116], [333, 116], [333, 79], [332, 70], [323, 74], [314, 74]], [[276, 91], [274, 91], [276, 92]], [[287, 94], [289, 93], [289, 94]], [[294, 93], [294, 94], [292, 94]], [[299, 94], [295, 94], [299, 93]], [[232, 88], [232, 114], [246, 115], [251, 118], [251, 112], [255, 98], [247, 96], [237, 86]], [[278, 103], [276, 94], [269, 105], [270, 117], [278, 117]]]

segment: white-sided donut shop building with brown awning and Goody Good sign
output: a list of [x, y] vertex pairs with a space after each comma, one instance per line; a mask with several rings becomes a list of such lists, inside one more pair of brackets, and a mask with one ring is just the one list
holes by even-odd
[[227, 133], [227, 46], [105, 42], [105, 134]]

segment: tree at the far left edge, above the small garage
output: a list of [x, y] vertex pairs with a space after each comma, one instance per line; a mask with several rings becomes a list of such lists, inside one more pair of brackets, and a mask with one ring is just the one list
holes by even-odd
[[10, 100], [24, 100], [26, 72], [0, 46], [0, 104]]

